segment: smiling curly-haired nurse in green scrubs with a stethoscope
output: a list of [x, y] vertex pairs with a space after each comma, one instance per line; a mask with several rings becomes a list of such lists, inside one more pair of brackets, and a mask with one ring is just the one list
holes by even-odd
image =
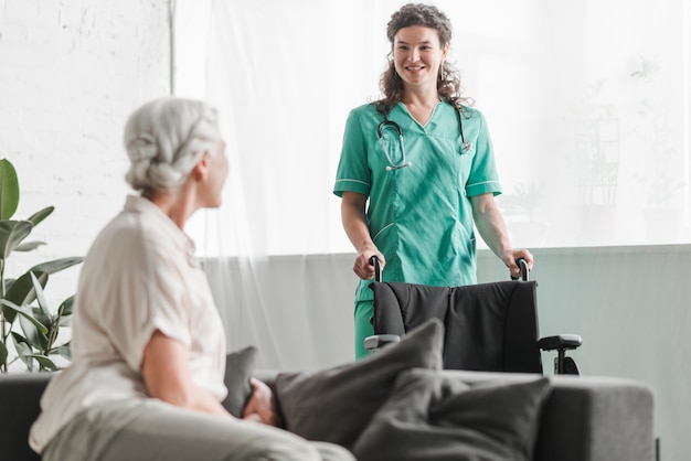
[[476, 283], [475, 224], [512, 274], [520, 274], [519, 258], [533, 265], [530, 251], [511, 246], [495, 203], [501, 187], [485, 118], [460, 97], [458, 73], [446, 62], [450, 21], [435, 7], [406, 4], [386, 34], [384, 98], [350, 112], [333, 186], [358, 253], [358, 358], [373, 334], [372, 256], [384, 265], [384, 281]]

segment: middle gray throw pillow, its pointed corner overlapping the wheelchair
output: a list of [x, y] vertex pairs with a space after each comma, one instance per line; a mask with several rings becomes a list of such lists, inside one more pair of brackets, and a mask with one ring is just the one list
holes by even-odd
[[433, 319], [400, 342], [354, 363], [316, 373], [279, 374], [274, 385], [286, 429], [351, 448], [410, 368], [442, 368], [444, 325]]

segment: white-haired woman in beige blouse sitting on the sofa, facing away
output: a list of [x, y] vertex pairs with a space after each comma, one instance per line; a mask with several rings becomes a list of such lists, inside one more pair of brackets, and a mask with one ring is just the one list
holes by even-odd
[[216, 111], [162, 98], [125, 128], [127, 181], [140, 195], [84, 261], [73, 363], [55, 376], [32, 427], [43, 460], [352, 460], [340, 447], [272, 427], [273, 396], [253, 380], [238, 419], [221, 401], [225, 337], [184, 223], [217, 207], [227, 175]]

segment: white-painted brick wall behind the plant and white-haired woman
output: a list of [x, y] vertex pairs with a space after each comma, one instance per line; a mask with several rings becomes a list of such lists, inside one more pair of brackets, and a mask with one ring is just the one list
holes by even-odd
[[[31, 238], [47, 245], [13, 254], [8, 276], [86, 253], [129, 191], [127, 116], [169, 92], [168, 0], [0, 0], [0, 158], [19, 174], [15, 218], [55, 206]], [[55, 275], [49, 299], [77, 277]]]

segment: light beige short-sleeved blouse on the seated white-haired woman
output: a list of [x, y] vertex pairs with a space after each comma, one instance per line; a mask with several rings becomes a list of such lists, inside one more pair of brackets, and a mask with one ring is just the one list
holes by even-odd
[[225, 335], [194, 244], [156, 205], [128, 196], [82, 267], [72, 329], [72, 365], [41, 398], [30, 433], [41, 452], [77, 412], [115, 399], [146, 398], [143, 349], [160, 330], [188, 347], [193, 382], [219, 401]]

